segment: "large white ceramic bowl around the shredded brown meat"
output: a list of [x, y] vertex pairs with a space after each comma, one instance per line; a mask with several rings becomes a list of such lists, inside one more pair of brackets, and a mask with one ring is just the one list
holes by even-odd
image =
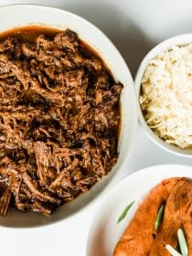
[[4, 21], [0, 23], [0, 32], [13, 27], [25, 27], [28, 25], [42, 25], [60, 29], [69, 27], [101, 55], [112, 70], [114, 79], [121, 81], [124, 86], [121, 96], [123, 122], [118, 144], [119, 157], [111, 173], [103, 177], [101, 182], [93, 186], [88, 193], [81, 195], [68, 205], [58, 208], [50, 217], [44, 217], [33, 212], [24, 214], [12, 208], [5, 218], [0, 218], [0, 225], [6, 227], [37, 227], [68, 218], [80, 209], [85, 208], [93, 199], [98, 195], [101, 196], [106, 189], [112, 187], [112, 184], [116, 182], [118, 174], [128, 160], [136, 133], [137, 111], [133, 79], [122, 56], [108, 37], [80, 16], [41, 5], [3, 6], [0, 7], [0, 16], [1, 20]]

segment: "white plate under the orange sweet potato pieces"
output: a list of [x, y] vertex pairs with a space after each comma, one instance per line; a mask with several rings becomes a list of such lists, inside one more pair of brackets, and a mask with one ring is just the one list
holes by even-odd
[[[127, 176], [110, 190], [96, 213], [90, 230], [87, 255], [112, 256], [112, 251], [133, 219], [136, 208], [151, 188], [172, 176], [192, 178], [192, 167], [185, 165], [155, 165]], [[123, 209], [135, 201], [127, 216], [117, 224]]]

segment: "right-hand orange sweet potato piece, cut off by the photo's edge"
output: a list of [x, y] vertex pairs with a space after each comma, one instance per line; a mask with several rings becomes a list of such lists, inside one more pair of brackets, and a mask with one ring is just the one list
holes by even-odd
[[183, 229], [187, 236], [188, 255], [192, 255], [192, 183], [180, 180], [167, 198], [165, 217], [156, 235], [150, 256], [170, 256], [166, 244], [177, 247], [177, 230]]

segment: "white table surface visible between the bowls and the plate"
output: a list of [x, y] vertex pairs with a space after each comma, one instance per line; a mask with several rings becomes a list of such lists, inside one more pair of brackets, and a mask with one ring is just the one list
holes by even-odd
[[[0, 1], [0, 5], [11, 4], [51, 5], [85, 17], [112, 39], [133, 76], [141, 59], [158, 42], [179, 34], [192, 33], [190, 0]], [[138, 169], [159, 164], [192, 165], [192, 159], [164, 152], [150, 142], [138, 127], [130, 160], [119, 179]], [[52, 226], [21, 230], [1, 227], [0, 253], [7, 256], [86, 255], [91, 220], [101, 201], [102, 198], [71, 219]]]

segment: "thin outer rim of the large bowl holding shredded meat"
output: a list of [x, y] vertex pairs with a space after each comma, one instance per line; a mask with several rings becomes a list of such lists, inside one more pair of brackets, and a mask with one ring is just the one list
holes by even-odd
[[[126, 76], [127, 76], [127, 80], [130, 80], [131, 83], [129, 83], [129, 90], [132, 91], [132, 94], [133, 94], [133, 123], [132, 123], [132, 126], [133, 126], [133, 131], [132, 131], [132, 136], [130, 138], [130, 141], [129, 141], [129, 144], [130, 144], [130, 147], [129, 149], [127, 150], [126, 152], [126, 156], [123, 158], [122, 160], [122, 163], [120, 165], [120, 167], [118, 168], [118, 170], [114, 173], [112, 173], [112, 177], [110, 178], [110, 180], [107, 182], [106, 184], [106, 187], [103, 187], [98, 195], [96, 195], [95, 197], [93, 197], [89, 202], [86, 203], [86, 205], [84, 205], [82, 208], [78, 208], [77, 210], [75, 211], [72, 211], [67, 217], [65, 217], [65, 219], [69, 219], [73, 216], [75, 216], [76, 214], [78, 214], [80, 211], [84, 211], [85, 209], [87, 208], [90, 208], [92, 206], [92, 204], [96, 201], [96, 200], [99, 200], [101, 197], [103, 197], [104, 193], [108, 190], [110, 190], [112, 188], [112, 186], [114, 186], [117, 182], [118, 182], [118, 179], [117, 179], [117, 176], [119, 175], [119, 172], [123, 169], [124, 165], [128, 162], [129, 160], [129, 157], [131, 155], [131, 151], [133, 149], [133, 144], [135, 142], [135, 137], [136, 137], [136, 132], [137, 132], [137, 124], [138, 124], [138, 112], [137, 112], [137, 103], [136, 103], [136, 94], [135, 94], [135, 90], [134, 90], [134, 83], [133, 83], [133, 76], [131, 74], [131, 71], [126, 63], [126, 61], [123, 59], [123, 56], [122, 54], [120, 53], [120, 51], [118, 50], [118, 48], [116, 48], [116, 46], [113, 44], [112, 40], [107, 37], [99, 27], [96, 27], [95, 25], [93, 25], [89, 20], [87, 20], [86, 18], [84, 17], [81, 17], [79, 15], [76, 15], [74, 13], [71, 13], [69, 11], [66, 11], [64, 9], [60, 9], [60, 8], [57, 8], [57, 7], [53, 7], [53, 6], [48, 6], [48, 5], [36, 5], [36, 4], [13, 4], [13, 5], [1, 5], [0, 6], [0, 9], [2, 8], [13, 8], [13, 7], [24, 7], [24, 8], [31, 8], [33, 9], [42, 9], [42, 10], [45, 10], [45, 9], [48, 9], [48, 10], [52, 10], [53, 12], [59, 12], [60, 14], [63, 14], [63, 15], [68, 15], [68, 16], [73, 16], [74, 18], [76, 19], [79, 19], [81, 20], [82, 22], [84, 23], [87, 23], [89, 27], [91, 27], [94, 31], [97, 31], [97, 33], [99, 33], [101, 35], [101, 37], [103, 37], [105, 39], [105, 41], [111, 45], [112, 47], [112, 51], [115, 51], [116, 52], [116, 55], [119, 57], [119, 59], [121, 59], [122, 63], [123, 63], [123, 66], [124, 66], [124, 69], [126, 69]], [[38, 23], [35, 23], [35, 24], [38, 24]], [[39, 23], [40, 24], [40, 23]], [[41, 24], [40, 24], [41, 25]], [[42, 26], [42, 25], [41, 25]], [[19, 27], [19, 26], [18, 26]], [[24, 26], [22, 26], [24, 27]], [[51, 27], [51, 26], [50, 26]], [[12, 27], [10, 27], [11, 29]], [[8, 28], [9, 29], [9, 28]], [[6, 29], [6, 30], [8, 30]], [[5, 31], [6, 31], [5, 30]], [[94, 47], [92, 47], [94, 48]], [[102, 59], [102, 57], [101, 57]], [[105, 59], [102, 59], [102, 61], [106, 62]], [[106, 62], [107, 63], [107, 62]], [[110, 68], [110, 67], [109, 67]], [[116, 79], [114, 79], [116, 80]], [[120, 136], [121, 136], [121, 133], [120, 133]], [[119, 145], [118, 145], [119, 146]], [[115, 164], [116, 165], [116, 164]], [[114, 166], [113, 166], [114, 167]], [[112, 167], [112, 168], [113, 168]], [[111, 174], [111, 173], [110, 173]], [[109, 174], [109, 175], [110, 175]], [[109, 176], [108, 175], [108, 176]], [[33, 226], [33, 227], [10, 227], [10, 226], [2, 226], [4, 227], [5, 229], [28, 229], [28, 228], [33, 228], [33, 229], [40, 229], [42, 227], [46, 227], [46, 226], [49, 226], [49, 225], [57, 225], [57, 223], [59, 223], [60, 221], [64, 221], [65, 219], [57, 219], [55, 221], [52, 221], [52, 222], [48, 222], [46, 225], [37, 225], [37, 226]]]

